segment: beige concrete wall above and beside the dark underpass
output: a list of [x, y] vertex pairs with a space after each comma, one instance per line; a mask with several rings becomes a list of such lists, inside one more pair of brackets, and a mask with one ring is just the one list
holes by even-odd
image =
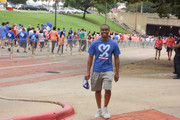
[[170, 19], [159, 18], [157, 14], [150, 13], [109, 13], [108, 17], [113, 19], [116, 18], [120, 23], [125, 23], [132, 30], [136, 30], [141, 34], [146, 34], [146, 25], [165, 25], [165, 26], [180, 26], [180, 20], [172, 16]]

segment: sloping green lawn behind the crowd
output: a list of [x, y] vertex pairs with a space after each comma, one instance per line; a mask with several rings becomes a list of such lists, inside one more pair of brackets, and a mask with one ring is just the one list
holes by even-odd
[[[54, 25], [55, 15], [52, 13], [35, 13], [35, 12], [16, 12], [16, 11], [0, 11], [0, 22], [10, 22], [12, 24], [22, 24], [25, 27], [32, 25], [36, 27], [37, 24], [46, 24], [51, 22]], [[77, 15], [62, 15], [57, 14], [57, 28], [66, 30], [72, 28], [73, 30], [84, 28], [88, 31], [99, 32], [100, 26], [105, 23], [105, 18], [98, 14], [86, 14], [86, 19], [82, 19], [82, 14]], [[111, 32], [127, 33], [120, 26], [113, 21], [107, 20]]]

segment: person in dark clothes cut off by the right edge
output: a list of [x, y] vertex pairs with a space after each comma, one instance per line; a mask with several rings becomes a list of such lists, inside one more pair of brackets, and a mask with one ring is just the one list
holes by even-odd
[[176, 74], [174, 79], [180, 79], [180, 29], [179, 37], [177, 39], [176, 45], [174, 45], [173, 48], [175, 49], [174, 69]]

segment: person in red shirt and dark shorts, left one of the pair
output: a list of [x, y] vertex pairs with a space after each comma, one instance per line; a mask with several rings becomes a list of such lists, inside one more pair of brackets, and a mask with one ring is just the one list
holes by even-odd
[[156, 49], [155, 60], [157, 59], [157, 54], [158, 54], [158, 60], [160, 59], [162, 45], [163, 45], [163, 41], [162, 41], [161, 37], [159, 36], [156, 39], [155, 44], [154, 44], [154, 48]]

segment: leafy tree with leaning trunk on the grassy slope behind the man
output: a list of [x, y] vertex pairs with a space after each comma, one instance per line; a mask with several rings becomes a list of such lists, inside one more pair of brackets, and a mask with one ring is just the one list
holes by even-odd
[[87, 9], [93, 6], [92, 0], [66, 0], [64, 3], [64, 7], [74, 7], [78, 9], [82, 9], [84, 11], [83, 19], [85, 19]]

